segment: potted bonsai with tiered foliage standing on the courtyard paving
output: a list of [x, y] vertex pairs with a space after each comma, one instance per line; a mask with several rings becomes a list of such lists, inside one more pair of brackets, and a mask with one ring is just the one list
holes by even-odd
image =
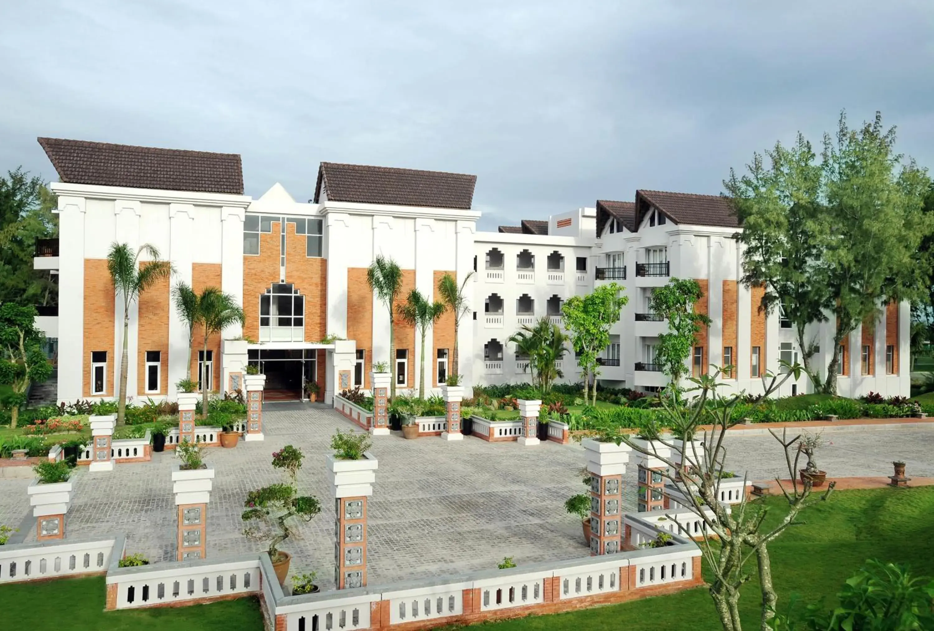
[[254, 540], [269, 540], [268, 552], [273, 563], [285, 560], [278, 548], [291, 536], [290, 521], [297, 518], [310, 522], [321, 512], [318, 498], [298, 494], [297, 478], [303, 459], [302, 450], [290, 444], [274, 452], [273, 467], [284, 470], [288, 482], [250, 491], [244, 502], [247, 510], [240, 515], [248, 523], [244, 535]]

